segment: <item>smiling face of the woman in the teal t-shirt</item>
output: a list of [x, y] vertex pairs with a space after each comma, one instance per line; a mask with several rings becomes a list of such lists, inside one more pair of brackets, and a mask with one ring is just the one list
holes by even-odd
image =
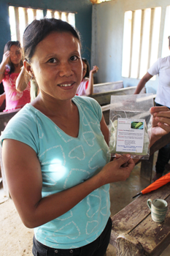
[[71, 33], [49, 34], [36, 46], [30, 72], [45, 97], [72, 99], [82, 80], [80, 42]]

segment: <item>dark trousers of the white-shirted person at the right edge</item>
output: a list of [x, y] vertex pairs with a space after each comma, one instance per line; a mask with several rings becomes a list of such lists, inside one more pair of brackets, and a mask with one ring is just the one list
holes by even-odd
[[[158, 103], [155, 103], [156, 106], [162, 106]], [[169, 162], [170, 159], [170, 143], [161, 148], [158, 151], [158, 158], [155, 165], [156, 173], [163, 173], [165, 170], [166, 164]]]

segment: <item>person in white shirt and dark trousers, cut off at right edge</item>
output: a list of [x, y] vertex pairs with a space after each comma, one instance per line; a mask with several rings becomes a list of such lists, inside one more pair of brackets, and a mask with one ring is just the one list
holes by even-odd
[[[170, 50], [170, 37], [169, 37], [169, 50]], [[147, 81], [149, 81], [153, 75], [159, 75], [158, 90], [155, 97], [156, 106], [166, 106], [170, 109], [170, 56], [165, 58], [159, 58], [152, 64], [152, 67], [147, 70], [147, 73], [140, 80], [134, 94], [139, 94], [139, 92], [144, 88]], [[155, 176], [153, 181], [161, 178], [163, 171], [170, 159], [170, 143], [161, 148], [158, 151], [158, 158], [155, 165]]]

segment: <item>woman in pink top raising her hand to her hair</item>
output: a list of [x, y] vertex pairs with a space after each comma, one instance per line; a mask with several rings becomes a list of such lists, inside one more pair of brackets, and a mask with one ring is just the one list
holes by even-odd
[[23, 108], [30, 102], [30, 85], [22, 77], [20, 80], [25, 90], [18, 92], [15, 88], [15, 82], [20, 74], [20, 68], [23, 66], [22, 50], [19, 41], [9, 41], [4, 47], [4, 55], [0, 64], [0, 83], [3, 82], [4, 94], [0, 95], [0, 105], [6, 99], [6, 108], [4, 111]]

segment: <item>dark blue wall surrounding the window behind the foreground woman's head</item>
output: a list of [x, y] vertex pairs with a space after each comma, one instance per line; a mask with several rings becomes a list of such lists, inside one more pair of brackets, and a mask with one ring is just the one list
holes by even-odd
[[82, 37], [82, 56], [90, 61], [92, 17], [90, 0], [0, 0], [0, 61], [4, 53], [4, 45], [10, 40], [9, 2], [11, 5], [16, 4], [20, 7], [77, 12], [75, 25]]

